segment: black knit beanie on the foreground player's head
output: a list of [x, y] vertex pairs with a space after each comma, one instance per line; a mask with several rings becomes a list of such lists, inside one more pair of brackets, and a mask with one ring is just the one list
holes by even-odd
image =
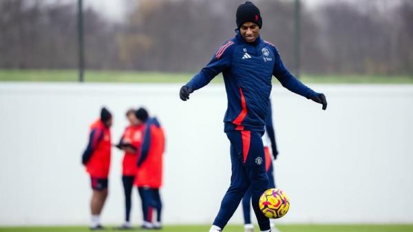
[[258, 9], [251, 1], [246, 1], [244, 4], [238, 6], [237, 9], [237, 28], [242, 24], [252, 22], [262, 28], [262, 19], [260, 9]]

